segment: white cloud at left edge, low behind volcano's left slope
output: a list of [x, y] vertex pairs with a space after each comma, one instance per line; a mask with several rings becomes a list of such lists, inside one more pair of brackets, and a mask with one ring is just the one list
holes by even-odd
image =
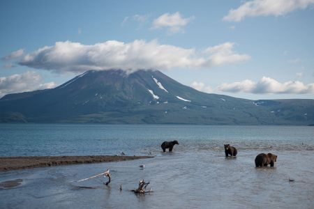
[[42, 77], [33, 71], [22, 74], [0, 77], [0, 98], [8, 93], [34, 91], [38, 89], [54, 88], [54, 82], [44, 83]]

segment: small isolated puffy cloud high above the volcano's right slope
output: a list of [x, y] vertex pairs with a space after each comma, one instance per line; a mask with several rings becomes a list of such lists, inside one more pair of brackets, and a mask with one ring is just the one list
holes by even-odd
[[182, 33], [184, 32], [182, 28], [194, 20], [194, 18], [194, 16], [183, 18], [179, 12], [173, 14], [165, 13], [154, 20], [151, 28], [167, 28], [170, 35], [174, 33]]

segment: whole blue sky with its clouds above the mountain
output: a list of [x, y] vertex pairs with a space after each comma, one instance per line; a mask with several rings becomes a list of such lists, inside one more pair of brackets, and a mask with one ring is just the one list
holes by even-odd
[[207, 93], [314, 99], [314, 0], [3, 0], [0, 28], [0, 97], [151, 68]]

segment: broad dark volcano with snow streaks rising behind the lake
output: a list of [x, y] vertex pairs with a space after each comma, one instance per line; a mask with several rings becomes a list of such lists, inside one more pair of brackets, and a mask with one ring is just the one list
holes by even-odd
[[90, 70], [53, 89], [4, 96], [0, 121], [308, 125], [314, 100], [244, 100], [196, 91], [159, 71]]

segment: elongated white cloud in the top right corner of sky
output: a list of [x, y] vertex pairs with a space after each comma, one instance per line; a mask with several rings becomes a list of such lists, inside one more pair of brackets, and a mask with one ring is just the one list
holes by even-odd
[[223, 17], [225, 21], [239, 22], [245, 17], [281, 16], [297, 9], [304, 9], [314, 4], [314, 0], [253, 0], [232, 9]]

